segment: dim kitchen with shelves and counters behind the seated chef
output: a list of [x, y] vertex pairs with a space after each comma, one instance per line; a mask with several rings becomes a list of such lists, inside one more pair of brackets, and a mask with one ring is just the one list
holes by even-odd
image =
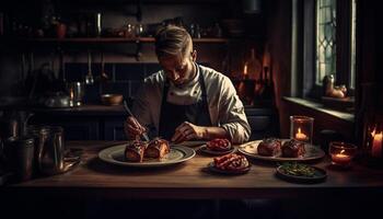
[[[2, 117], [26, 117], [14, 113], [20, 111], [33, 113], [28, 124], [60, 125], [69, 140], [125, 139], [123, 107], [105, 105], [101, 95], [121, 94], [131, 104], [143, 78], [160, 69], [153, 51], [155, 30], [174, 24], [193, 35], [198, 62], [232, 79], [246, 106], [252, 139], [288, 138], [289, 116], [300, 114], [315, 117], [315, 143], [320, 143], [321, 131], [328, 128], [345, 140], [358, 140], [362, 84], [382, 80], [376, 60], [381, 51], [375, 49], [378, 15], [373, 3], [358, 2], [356, 104], [344, 119], [287, 97], [307, 96], [306, 69], [302, 66], [304, 46], [294, 43], [304, 42], [303, 28], [294, 32], [293, 26], [306, 25], [302, 18], [310, 2], [314, 1], [2, 2]], [[292, 25], [293, 15], [301, 22]], [[89, 69], [93, 83], [86, 84]], [[78, 87], [84, 88], [79, 89], [80, 97], [78, 92], [68, 91], [68, 87], [76, 88], [71, 82], [81, 82]], [[376, 97], [370, 105], [379, 111], [382, 91], [375, 85], [372, 92]], [[66, 95], [72, 95], [74, 105], [81, 106], [57, 107]]]

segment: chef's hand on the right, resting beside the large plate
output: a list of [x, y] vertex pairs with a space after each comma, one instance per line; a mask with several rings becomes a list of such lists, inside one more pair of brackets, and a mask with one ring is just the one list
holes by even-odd
[[181, 124], [172, 137], [172, 141], [179, 143], [190, 139], [204, 139], [207, 132], [207, 128], [204, 126], [196, 126], [192, 123], [184, 122]]

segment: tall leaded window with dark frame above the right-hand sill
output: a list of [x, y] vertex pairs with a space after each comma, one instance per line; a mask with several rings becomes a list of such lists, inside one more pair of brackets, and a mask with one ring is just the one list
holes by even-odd
[[[297, 64], [303, 68], [292, 74], [301, 84], [297, 96], [321, 99], [322, 81], [334, 74], [336, 85], [345, 84], [353, 94], [356, 78], [356, 12], [357, 0], [294, 0], [293, 15], [298, 19]], [[297, 14], [295, 14], [297, 13]], [[301, 53], [301, 55], [299, 54]], [[293, 82], [292, 82], [293, 83]]]

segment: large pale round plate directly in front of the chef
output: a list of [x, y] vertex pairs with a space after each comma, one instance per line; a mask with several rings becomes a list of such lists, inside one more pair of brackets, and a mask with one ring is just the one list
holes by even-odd
[[98, 153], [98, 158], [107, 163], [125, 165], [125, 166], [136, 166], [136, 168], [155, 168], [172, 165], [175, 163], [181, 163], [192, 159], [196, 152], [192, 148], [186, 148], [184, 146], [172, 146], [171, 151], [163, 159], [143, 159], [142, 162], [128, 162], [125, 160], [125, 147], [126, 145], [114, 146], [106, 148]]

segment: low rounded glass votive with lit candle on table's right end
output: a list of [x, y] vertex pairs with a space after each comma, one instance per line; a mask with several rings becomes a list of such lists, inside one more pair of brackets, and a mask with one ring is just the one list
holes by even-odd
[[351, 160], [357, 154], [358, 147], [352, 143], [332, 141], [328, 154], [332, 157], [332, 164], [341, 168], [349, 168]]

